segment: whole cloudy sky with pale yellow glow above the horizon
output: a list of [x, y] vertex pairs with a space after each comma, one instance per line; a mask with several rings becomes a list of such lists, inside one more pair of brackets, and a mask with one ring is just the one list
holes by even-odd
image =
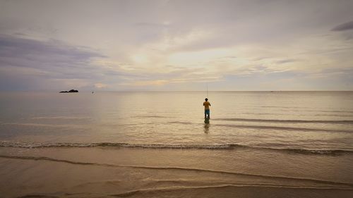
[[0, 91], [353, 90], [352, 8], [0, 0]]

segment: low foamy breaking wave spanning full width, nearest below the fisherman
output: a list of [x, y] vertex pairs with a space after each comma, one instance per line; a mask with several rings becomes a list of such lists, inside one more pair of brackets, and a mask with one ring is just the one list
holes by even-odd
[[256, 147], [243, 144], [129, 144], [118, 142], [97, 142], [97, 143], [35, 143], [35, 142], [0, 142], [0, 147], [18, 148], [48, 148], [48, 147], [111, 147], [111, 148], [140, 148], [140, 149], [256, 149], [284, 151], [297, 154], [323, 154], [323, 155], [342, 155], [353, 154], [352, 150], [342, 149], [298, 149], [287, 147]]

